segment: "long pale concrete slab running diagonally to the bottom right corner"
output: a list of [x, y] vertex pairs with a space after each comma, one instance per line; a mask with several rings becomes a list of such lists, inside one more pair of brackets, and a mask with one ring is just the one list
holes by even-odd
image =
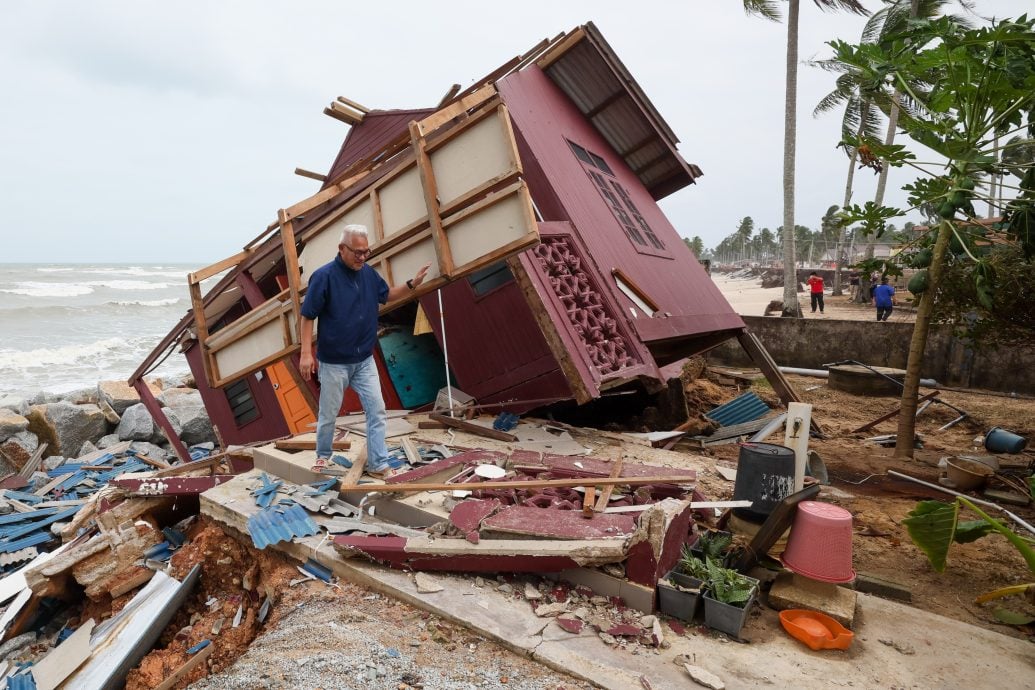
[[[235, 481], [203, 493], [202, 513], [247, 541], [247, 514], [257, 508], [246, 491], [235, 493]], [[1035, 689], [1030, 642], [868, 595], [858, 595], [856, 637], [848, 652], [810, 651], [783, 632], [776, 611], [767, 608], [750, 617], [743, 633], [746, 644], [693, 629], [677, 635], [662, 626], [668, 649], [621, 649], [608, 647], [589, 628], [579, 635], [563, 632], [552, 619], [537, 618], [524, 597], [475, 587], [468, 576], [438, 574], [445, 589], [420, 594], [412, 575], [347, 559], [329, 540], [307, 537], [270, 548], [298, 561], [315, 558], [343, 579], [464, 625], [519, 654], [608, 689], [689, 687], [681, 663], [684, 655], [689, 663], [722, 679], [731, 690], [763, 685], [806, 690], [960, 688], [987, 687], [989, 682]], [[893, 642], [916, 653], [900, 652]]]

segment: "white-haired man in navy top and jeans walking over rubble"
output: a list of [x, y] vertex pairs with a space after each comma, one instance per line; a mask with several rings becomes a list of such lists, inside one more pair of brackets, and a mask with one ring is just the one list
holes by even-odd
[[[337, 243], [337, 256], [309, 276], [302, 303], [302, 379], [314, 371], [320, 381], [320, 414], [317, 420], [317, 462], [327, 467], [334, 440], [334, 421], [342, 409], [345, 389], [356, 391], [366, 414], [366, 469], [383, 474], [400, 463], [388, 457], [385, 432], [388, 426], [384, 396], [374, 348], [378, 342], [378, 306], [402, 299], [416, 290], [430, 265], [403, 286], [388, 287], [366, 265], [371, 256], [365, 226], [346, 226]], [[313, 356], [313, 323], [319, 319], [317, 356]], [[317, 361], [319, 360], [319, 370]], [[348, 460], [342, 462], [348, 467]]]

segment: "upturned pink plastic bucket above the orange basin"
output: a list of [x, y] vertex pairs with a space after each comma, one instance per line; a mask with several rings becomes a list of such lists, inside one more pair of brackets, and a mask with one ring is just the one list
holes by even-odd
[[783, 565], [822, 582], [851, 582], [852, 513], [819, 501], [802, 501], [794, 518]]

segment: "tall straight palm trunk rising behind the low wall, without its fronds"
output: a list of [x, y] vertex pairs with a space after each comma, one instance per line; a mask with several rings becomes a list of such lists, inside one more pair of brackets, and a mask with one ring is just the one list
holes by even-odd
[[798, 0], [787, 14], [787, 96], [783, 100], [783, 309], [781, 317], [799, 317], [798, 270], [794, 251], [794, 157], [798, 103]]

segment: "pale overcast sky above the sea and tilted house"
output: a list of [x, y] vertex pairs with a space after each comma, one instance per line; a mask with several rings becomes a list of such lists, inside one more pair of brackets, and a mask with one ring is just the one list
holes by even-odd
[[[870, 8], [880, 3], [864, 0]], [[1017, 16], [1022, 0], [977, 0]], [[662, 202], [681, 235], [714, 246], [740, 218], [781, 222], [786, 27], [739, 0], [153, 2], [4, 0], [0, 24], [0, 262], [214, 263], [277, 208], [318, 189], [345, 124], [438, 102], [540, 38], [593, 21], [702, 168]], [[802, 60], [855, 39], [863, 19], [802, 0]], [[796, 221], [844, 196], [838, 116], [811, 116], [832, 77], [802, 66]], [[875, 177], [857, 175], [855, 200]], [[892, 171], [889, 203], [911, 181]]]

